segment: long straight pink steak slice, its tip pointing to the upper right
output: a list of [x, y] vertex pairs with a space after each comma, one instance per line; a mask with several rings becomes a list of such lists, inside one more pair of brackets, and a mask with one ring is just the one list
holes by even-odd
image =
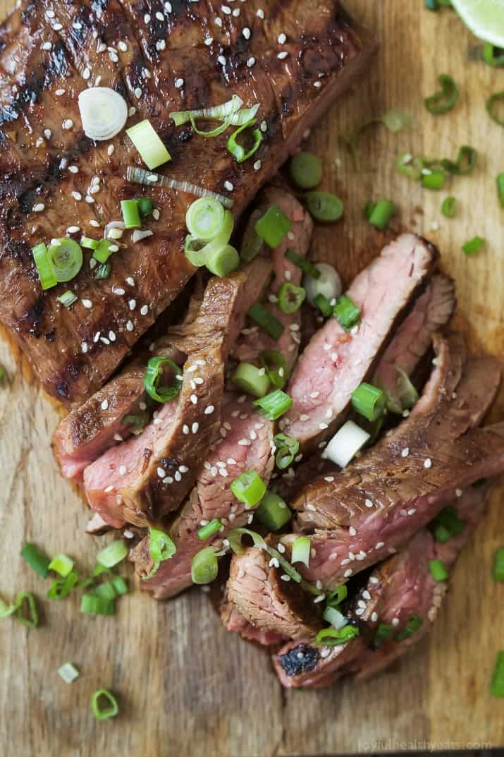
[[437, 251], [413, 234], [403, 234], [384, 248], [354, 279], [348, 297], [360, 308], [351, 332], [330, 318], [298, 360], [288, 384], [293, 404], [282, 419], [288, 435], [313, 450], [344, 420], [356, 387], [372, 372], [394, 326], [431, 275]]

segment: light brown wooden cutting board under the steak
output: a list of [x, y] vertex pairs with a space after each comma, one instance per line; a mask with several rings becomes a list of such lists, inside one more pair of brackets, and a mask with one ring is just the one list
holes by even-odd
[[[348, 5], [381, 48], [369, 76], [310, 138], [310, 148], [324, 157], [325, 188], [341, 195], [346, 208], [337, 226], [317, 229], [314, 258], [330, 260], [348, 282], [382, 242], [362, 219], [363, 205], [393, 198], [397, 229], [439, 245], [443, 268], [457, 283], [456, 324], [471, 347], [502, 357], [504, 210], [495, 176], [504, 171], [504, 129], [487, 117], [484, 101], [504, 89], [504, 70], [478, 60], [481, 45], [451, 11], [425, 11], [422, 0]], [[7, 8], [0, 0], [2, 14]], [[422, 98], [437, 90], [440, 73], [455, 76], [461, 95], [452, 114], [434, 117]], [[338, 134], [398, 106], [415, 115], [413, 131], [369, 129], [354, 170]], [[398, 176], [394, 157], [411, 151], [454, 158], [466, 144], [479, 149], [480, 165], [473, 176], [453, 180], [449, 193], [459, 198], [460, 216], [446, 220], [440, 214], [446, 192], [422, 191]], [[487, 238], [487, 249], [465, 257], [462, 243], [477, 234]], [[64, 550], [84, 570], [103, 540], [83, 534], [86, 511], [58, 476], [49, 448], [58, 414], [17, 348], [3, 341], [0, 360], [9, 377], [0, 391], [0, 596], [32, 590], [43, 607], [35, 631], [0, 623], [5, 757], [266, 757], [504, 744], [504, 702], [488, 695], [496, 651], [504, 648], [504, 587], [491, 580], [493, 550], [504, 544], [502, 486], [456, 566], [429, 640], [369, 683], [285, 692], [268, 656], [224, 631], [198, 590], [169, 604], [135, 590], [120, 601], [116, 618], [79, 615], [76, 597], [43, 600], [47, 584], [21, 561], [23, 542], [35, 540], [49, 554]], [[491, 419], [503, 417], [501, 391]], [[56, 674], [67, 660], [81, 671], [70, 686]], [[98, 687], [120, 696], [114, 721], [98, 723], [91, 714]]]

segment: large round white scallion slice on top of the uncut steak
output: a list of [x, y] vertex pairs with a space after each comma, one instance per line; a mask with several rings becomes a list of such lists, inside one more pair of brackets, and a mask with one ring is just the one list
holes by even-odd
[[126, 124], [128, 106], [110, 87], [90, 87], [79, 94], [82, 129], [89, 139], [112, 139]]

